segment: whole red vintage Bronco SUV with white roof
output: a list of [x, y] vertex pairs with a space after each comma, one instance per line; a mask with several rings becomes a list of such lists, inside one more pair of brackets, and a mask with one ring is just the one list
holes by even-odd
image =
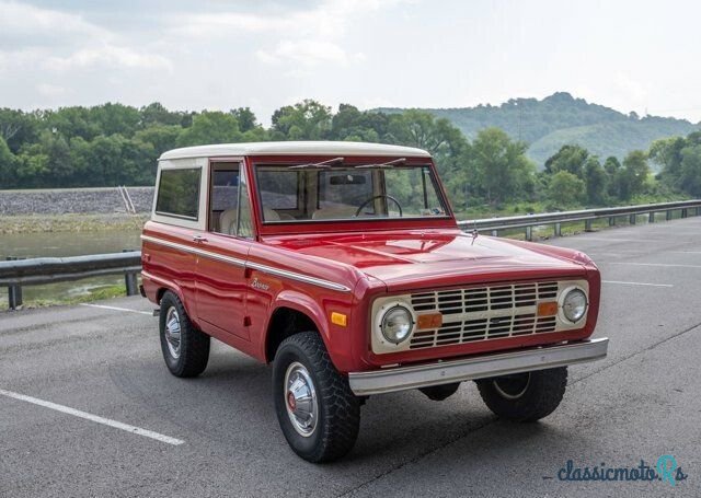
[[445, 399], [474, 380], [501, 417], [560, 404], [600, 277], [585, 254], [463, 233], [430, 155], [354, 142], [193, 147], [159, 160], [142, 240], [165, 364], [207, 367], [215, 337], [273, 363], [285, 438], [311, 462], [354, 445], [367, 396]]

